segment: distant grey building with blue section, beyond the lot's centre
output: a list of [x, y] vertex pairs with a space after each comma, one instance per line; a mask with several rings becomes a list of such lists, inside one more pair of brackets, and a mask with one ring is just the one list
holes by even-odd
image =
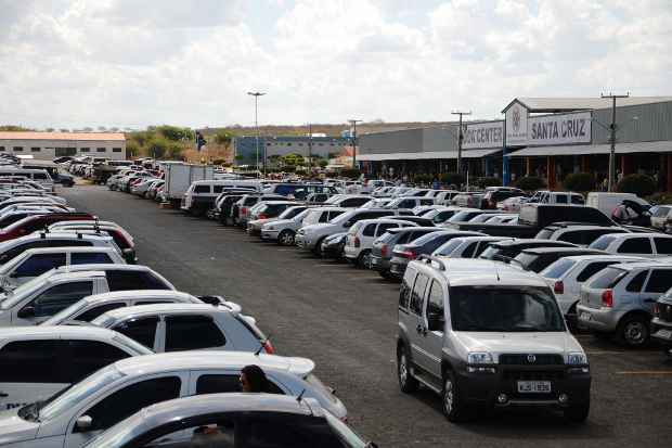
[[233, 139], [234, 164], [256, 165], [263, 164], [263, 155], [271, 162], [276, 157], [287, 154], [299, 154], [305, 158], [312, 157], [334, 158], [345, 151], [350, 140], [343, 137], [259, 137], [259, 151], [257, 155], [256, 137], [236, 137]]

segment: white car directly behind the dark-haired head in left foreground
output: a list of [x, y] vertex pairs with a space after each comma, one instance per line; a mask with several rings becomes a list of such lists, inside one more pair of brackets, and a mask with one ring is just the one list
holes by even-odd
[[240, 392], [243, 367], [259, 366], [272, 393], [314, 398], [336, 418], [347, 410], [306, 358], [241, 351], [137, 356], [109, 364], [65, 393], [0, 414], [0, 440], [13, 447], [79, 448], [143, 408], [201, 394]]

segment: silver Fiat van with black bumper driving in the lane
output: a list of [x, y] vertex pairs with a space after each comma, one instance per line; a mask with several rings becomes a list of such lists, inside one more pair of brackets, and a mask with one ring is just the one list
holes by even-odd
[[421, 257], [399, 295], [397, 371], [404, 393], [442, 396], [448, 420], [477, 407], [560, 408], [584, 421], [587, 357], [539, 276], [478, 259]]

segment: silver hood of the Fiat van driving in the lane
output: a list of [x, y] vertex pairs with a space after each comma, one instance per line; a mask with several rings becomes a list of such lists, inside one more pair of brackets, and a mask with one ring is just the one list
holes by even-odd
[[502, 354], [557, 354], [583, 353], [581, 345], [567, 332], [454, 332], [453, 337], [468, 351], [488, 351], [495, 362]]

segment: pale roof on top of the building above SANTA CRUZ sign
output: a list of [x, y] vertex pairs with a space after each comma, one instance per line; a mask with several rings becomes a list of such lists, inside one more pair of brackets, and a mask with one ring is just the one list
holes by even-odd
[[[651, 104], [672, 101], [672, 97], [630, 97], [616, 100], [617, 107], [638, 104]], [[533, 113], [555, 113], [568, 111], [587, 111], [611, 107], [609, 98], [515, 98], [502, 113], [515, 102], [519, 102]]]

